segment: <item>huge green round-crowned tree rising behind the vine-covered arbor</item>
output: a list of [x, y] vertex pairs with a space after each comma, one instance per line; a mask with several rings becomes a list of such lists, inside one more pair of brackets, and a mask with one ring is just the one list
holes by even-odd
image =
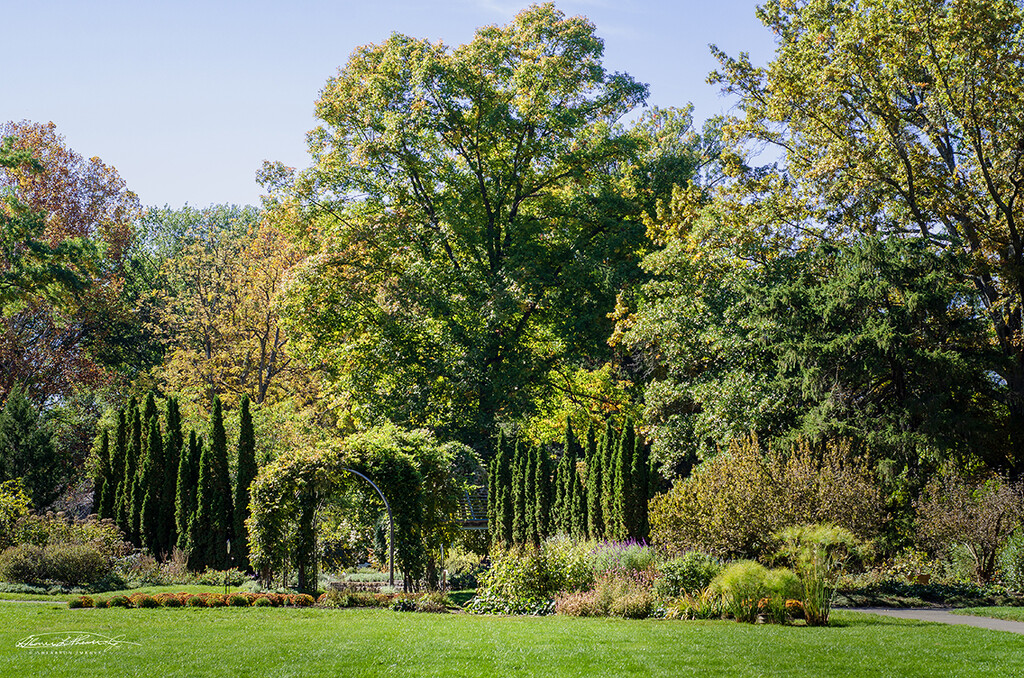
[[457, 48], [392, 35], [325, 87], [313, 167], [265, 168], [315, 252], [290, 316], [358, 416], [486, 450], [554, 368], [608, 352], [643, 238], [615, 121], [646, 88], [602, 52], [550, 3]]

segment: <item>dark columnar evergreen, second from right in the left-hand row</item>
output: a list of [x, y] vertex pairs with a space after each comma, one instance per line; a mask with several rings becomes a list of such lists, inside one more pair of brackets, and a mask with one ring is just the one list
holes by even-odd
[[200, 457], [196, 525], [191, 531], [195, 543], [189, 555], [189, 567], [223, 569], [228, 566], [227, 540], [230, 537], [232, 517], [224, 416], [220, 398], [214, 397], [210, 444]]

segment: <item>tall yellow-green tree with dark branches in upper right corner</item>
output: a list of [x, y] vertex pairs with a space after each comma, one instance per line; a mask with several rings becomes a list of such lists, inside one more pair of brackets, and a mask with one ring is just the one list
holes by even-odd
[[[984, 303], [1024, 472], [1024, 7], [1014, 0], [769, 0], [756, 68], [719, 52], [736, 130], [783, 152], [818, 224], [916, 234], [963, 253]], [[958, 271], [950, 271], [950, 276]]]

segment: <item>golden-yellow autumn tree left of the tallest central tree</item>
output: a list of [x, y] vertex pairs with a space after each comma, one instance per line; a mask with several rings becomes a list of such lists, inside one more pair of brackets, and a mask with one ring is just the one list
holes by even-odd
[[204, 404], [262, 404], [304, 388], [308, 373], [292, 359], [275, 303], [300, 259], [284, 235], [251, 207], [151, 210], [143, 225], [163, 283], [161, 381]]

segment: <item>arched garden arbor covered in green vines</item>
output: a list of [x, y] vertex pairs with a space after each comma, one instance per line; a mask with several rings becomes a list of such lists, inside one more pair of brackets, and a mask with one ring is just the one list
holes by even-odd
[[[437, 571], [434, 553], [460, 529], [460, 498], [481, 465], [461, 443], [387, 425], [341, 443], [301, 450], [263, 467], [251, 489], [250, 560], [264, 583], [289, 566], [303, 590], [316, 587], [316, 514], [332, 497], [371, 479], [393, 518], [390, 548], [409, 590]], [[369, 525], [368, 525], [369, 526]]]

